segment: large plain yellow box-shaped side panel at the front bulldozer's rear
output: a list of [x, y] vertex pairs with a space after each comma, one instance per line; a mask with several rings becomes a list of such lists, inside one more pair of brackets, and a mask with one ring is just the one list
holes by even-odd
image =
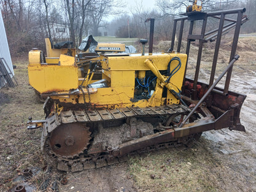
[[78, 88], [76, 66], [28, 66], [28, 76], [31, 86], [41, 94]]

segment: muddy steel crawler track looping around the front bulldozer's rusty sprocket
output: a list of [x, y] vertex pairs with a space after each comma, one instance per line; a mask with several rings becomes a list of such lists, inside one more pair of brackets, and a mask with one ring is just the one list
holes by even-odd
[[128, 156], [133, 154], [148, 153], [154, 150], [161, 150], [163, 148], [170, 148], [173, 146], [180, 146], [183, 143], [188, 143], [194, 140], [194, 135], [190, 137], [179, 138], [172, 142], [162, 142], [155, 145], [149, 145], [140, 150], [135, 150], [124, 156], [114, 157], [108, 151], [100, 154], [87, 154], [87, 150], [73, 156], [60, 156], [54, 153], [50, 147], [50, 133], [61, 124], [81, 122], [105, 122], [114, 121], [118, 119], [129, 119], [132, 117], [156, 117], [156, 116], [177, 116], [178, 114], [187, 114], [190, 112], [189, 108], [182, 105], [166, 105], [158, 107], [147, 108], [121, 108], [114, 110], [95, 110], [95, 111], [62, 111], [59, 115], [52, 114], [46, 118], [46, 123], [42, 131], [41, 148], [47, 155], [47, 161], [58, 170], [66, 172], [78, 172], [84, 169], [94, 169], [98, 167], [110, 166], [120, 162], [127, 161]]

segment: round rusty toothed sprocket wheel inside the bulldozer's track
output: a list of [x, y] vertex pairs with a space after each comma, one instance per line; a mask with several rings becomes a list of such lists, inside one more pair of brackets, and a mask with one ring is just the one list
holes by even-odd
[[50, 148], [62, 158], [74, 158], [89, 145], [90, 132], [84, 124], [61, 124], [50, 134]]

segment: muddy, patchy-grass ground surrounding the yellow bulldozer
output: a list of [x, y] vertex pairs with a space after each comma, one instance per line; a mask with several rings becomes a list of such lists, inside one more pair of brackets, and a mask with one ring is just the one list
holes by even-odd
[[[225, 63], [221, 69], [228, 63], [229, 47], [226, 40], [220, 51], [219, 62]], [[213, 47], [204, 49], [200, 78], [206, 82], [213, 52]], [[0, 90], [0, 191], [14, 191], [19, 183], [27, 191], [256, 191], [256, 38], [239, 39], [238, 54], [230, 89], [247, 95], [240, 114], [246, 132], [209, 131], [192, 148], [153, 151], [74, 174], [47, 167], [39, 146], [41, 131], [26, 130], [28, 116], [44, 119], [43, 104], [28, 83], [27, 60], [14, 62], [19, 85]], [[33, 177], [24, 178], [22, 172], [28, 168]]]

